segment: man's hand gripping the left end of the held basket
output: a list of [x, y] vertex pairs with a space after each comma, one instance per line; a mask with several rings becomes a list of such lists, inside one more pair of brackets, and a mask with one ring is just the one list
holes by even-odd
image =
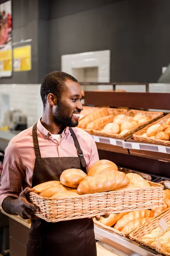
[[24, 189], [19, 198], [12, 200], [12, 212], [14, 214], [19, 215], [23, 219], [37, 219], [38, 217], [35, 216], [32, 211], [39, 211], [39, 208], [36, 207], [34, 204], [30, 204], [27, 201], [27, 195], [29, 192], [34, 192], [35, 189], [26, 188]]

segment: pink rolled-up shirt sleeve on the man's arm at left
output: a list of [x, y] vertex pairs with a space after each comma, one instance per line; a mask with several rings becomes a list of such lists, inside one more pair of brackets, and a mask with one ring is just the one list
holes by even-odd
[[0, 205], [7, 196], [18, 198], [22, 191], [25, 173], [16, 146], [10, 142], [5, 150], [3, 171], [0, 179]]

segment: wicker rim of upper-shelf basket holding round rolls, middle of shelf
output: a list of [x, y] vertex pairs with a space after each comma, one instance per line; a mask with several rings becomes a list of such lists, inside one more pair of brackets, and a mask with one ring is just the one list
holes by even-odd
[[127, 111], [126, 113], [124, 113], [125, 116], [131, 116], [134, 117], [136, 114], [144, 114], [144, 116], [147, 116], [150, 118], [149, 121], [144, 122], [141, 125], [136, 126], [135, 128], [133, 128], [132, 130], [130, 130], [129, 132], [127, 132], [124, 136], [121, 136], [119, 134], [112, 134], [112, 133], [104, 133], [102, 132], [102, 129], [105, 127], [101, 127], [98, 130], [94, 130], [93, 134], [96, 136], [103, 136], [103, 137], [110, 137], [110, 138], [114, 138], [114, 139], [119, 139], [119, 140], [125, 140], [128, 137], [130, 137], [134, 132], [138, 131], [139, 129], [143, 128], [145, 125], [161, 118], [161, 116], [163, 116], [163, 112], [153, 112], [153, 111], [140, 111], [140, 110], [130, 110]]

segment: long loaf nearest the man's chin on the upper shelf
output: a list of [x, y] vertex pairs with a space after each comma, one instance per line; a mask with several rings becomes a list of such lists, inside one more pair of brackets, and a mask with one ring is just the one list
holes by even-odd
[[95, 111], [93, 113], [88, 114], [87, 116], [85, 116], [80, 122], [78, 127], [79, 128], [86, 128], [86, 126], [94, 121], [95, 119], [98, 119], [100, 117], [103, 116], [108, 116], [109, 112], [107, 110], [107, 108], [100, 108], [98, 111]]

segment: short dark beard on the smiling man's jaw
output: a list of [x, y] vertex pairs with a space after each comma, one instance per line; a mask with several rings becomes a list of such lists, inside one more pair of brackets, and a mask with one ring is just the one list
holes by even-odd
[[68, 113], [69, 113], [68, 105], [63, 104], [60, 101], [58, 101], [57, 108], [56, 108], [56, 110], [54, 112], [54, 115], [53, 115], [54, 123], [56, 125], [62, 125], [64, 127], [66, 127], [66, 126], [76, 127], [79, 124], [78, 120], [76, 120], [76, 122], [74, 122], [72, 120], [73, 113], [72, 113], [71, 116], [69, 116]]

